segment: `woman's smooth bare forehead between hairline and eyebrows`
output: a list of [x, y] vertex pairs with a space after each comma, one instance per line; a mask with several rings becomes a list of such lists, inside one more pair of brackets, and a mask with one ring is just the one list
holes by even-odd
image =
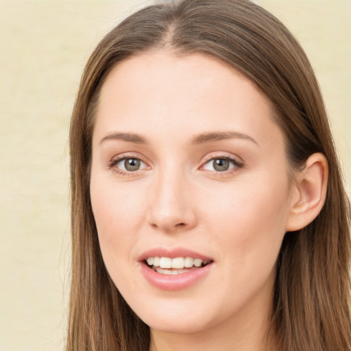
[[277, 129], [270, 101], [239, 71], [193, 53], [152, 51], [123, 60], [101, 88], [94, 134], [184, 136], [232, 130], [261, 140]]

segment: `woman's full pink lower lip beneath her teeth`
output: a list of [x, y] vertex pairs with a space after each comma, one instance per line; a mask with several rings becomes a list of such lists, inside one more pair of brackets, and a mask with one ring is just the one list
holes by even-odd
[[213, 263], [209, 263], [205, 267], [191, 269], [181, 274], [160, 274], [149, 268], [145, 263], [141, 263], [141, 271], [146, 280], [154, 287], [162, 290], [182, 290], [194, 285], [195, 282], [204, 278], [213, 267]]

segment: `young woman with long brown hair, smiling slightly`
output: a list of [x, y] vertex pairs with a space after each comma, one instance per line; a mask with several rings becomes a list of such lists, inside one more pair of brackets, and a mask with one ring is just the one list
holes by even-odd
[[67, 350], [350, 350], [350, 207], [300, 45], [241, 0], [133, 14], [71, 121]]

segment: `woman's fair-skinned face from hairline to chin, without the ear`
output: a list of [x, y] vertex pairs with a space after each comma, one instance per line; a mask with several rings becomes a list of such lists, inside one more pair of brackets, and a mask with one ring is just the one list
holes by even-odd
[[145, 53], [108, 75], [91, 202], [108, 273], [152, 330], [266, 320], [293, 197], [272, 113], [202, 54]]

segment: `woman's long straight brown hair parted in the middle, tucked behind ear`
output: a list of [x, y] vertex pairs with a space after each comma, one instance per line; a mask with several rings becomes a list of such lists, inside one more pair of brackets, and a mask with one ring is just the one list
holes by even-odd
[[278, 19], [244, 0], [183, 0], [132, 14], [101, 40], [82, 75], [71, 148], [72, 281], [67, 351], [147, 351], [149, 328], [125, 303], [99, 250], [89, 182], [99, 91], [116, 64], [167, 47], [204, 53], [241, 71], [270, 99], [295, 168], [322, 152], [326, 202], [310, 225], [288, 232], [277, 265], [271, 332], [279, 350], [351, 350], [350, 205], [311, 64]]

